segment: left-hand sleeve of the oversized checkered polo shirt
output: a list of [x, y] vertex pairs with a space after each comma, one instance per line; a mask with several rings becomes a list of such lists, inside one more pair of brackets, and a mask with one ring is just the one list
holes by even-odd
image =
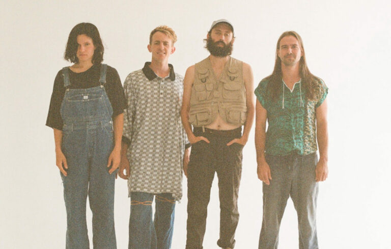
[[126, 144], [130, 144], [133, 135], [133, 118], [135, 112], [134, 92], [132, 89], [131, 74], [126, 77], [124, 82], [124, 92], [127, 98], [127, 108], [124, 111], [124, 130], [122, 135], [122, 141]]

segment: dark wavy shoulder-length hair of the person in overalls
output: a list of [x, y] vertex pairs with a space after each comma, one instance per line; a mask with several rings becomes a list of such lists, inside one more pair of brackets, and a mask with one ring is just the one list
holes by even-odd
[[77, 52], [77, 36], [86, 35], [92, 39], [95, 46], [92, 63], [100, 64], [103, 61], [104, 47], [102, 39], [100, 39], [99, 31], [96, 26], [89, 22], [81, 22], [71, 30], [68, 36], [67, 46], [65, 48], [64, 59], [72, 63], [78, 63], [79, 59], [76, 56]]

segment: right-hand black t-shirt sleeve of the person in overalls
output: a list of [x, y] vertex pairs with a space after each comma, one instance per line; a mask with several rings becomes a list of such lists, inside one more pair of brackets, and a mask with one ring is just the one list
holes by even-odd
[[120, 76], [117, 70], [107, 66], [106, 86], [108, 99], [113, 108], [113, 118], [124, 112], [127, 108], [127, 101], [122, 87]]

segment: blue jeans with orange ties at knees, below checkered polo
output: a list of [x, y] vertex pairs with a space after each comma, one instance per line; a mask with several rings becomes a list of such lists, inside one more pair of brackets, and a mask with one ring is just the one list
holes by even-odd
[[[155, 197], [155, 218], [152, 202]], [[129, 249], [170, 249], [175, 200], [171, 193], [130, 193]]]

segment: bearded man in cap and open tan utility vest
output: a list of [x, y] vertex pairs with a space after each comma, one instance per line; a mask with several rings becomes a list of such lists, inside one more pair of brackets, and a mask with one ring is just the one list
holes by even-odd
[[255, 107], [252, 69], [230, 56], [234, 40], [234, 29], [228, 20], [214, 21], [205, 46], [210, 56], [190, 66], [185, 74], [181, 117], [192, 144], [190, 162], [187, 168], [184, 165], [188, 188], [186, 249], [203, 248], [215, 172], [220, 199], [217, 245], [235, 245], [242, 149]]

